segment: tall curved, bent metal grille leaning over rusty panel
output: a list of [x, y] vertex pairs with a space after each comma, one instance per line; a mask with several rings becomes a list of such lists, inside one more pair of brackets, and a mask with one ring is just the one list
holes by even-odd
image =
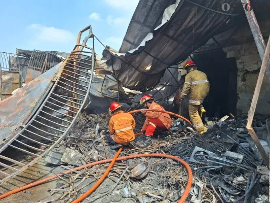
[[[91, 30], [91, 26], [89, 28]], [[94, 48], [85, 44], [75, 46], [63, 61], [61, 73], [41, 107], [15, 137], [0, 148], [0, 184], [46, 155], [64, 138], [83, 109], [95, 64]], [[20, 159], [10, 156], [11, 149], [14, 153], [20, 153]]]

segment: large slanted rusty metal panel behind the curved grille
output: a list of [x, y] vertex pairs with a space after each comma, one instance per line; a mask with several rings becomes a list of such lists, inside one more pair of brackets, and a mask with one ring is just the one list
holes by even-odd
[[35, 78], [22, 87], [16, 94], [0, 101], [0, 144], [4, 139], [13, 137], [21, 125], [26, 124], [35, 109], [43, 100], [44, 94], [58, 77], [61, 63]]

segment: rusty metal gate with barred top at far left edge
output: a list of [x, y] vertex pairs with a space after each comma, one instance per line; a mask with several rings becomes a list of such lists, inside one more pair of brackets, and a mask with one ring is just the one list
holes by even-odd
[[16, 54], [0, 52], [0, 101], [11, 96], [13, 90], [21, 88], [21, 71], [20, 60]]

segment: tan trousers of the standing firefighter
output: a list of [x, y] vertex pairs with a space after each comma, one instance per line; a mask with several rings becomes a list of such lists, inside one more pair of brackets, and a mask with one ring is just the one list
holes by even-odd
[[188, 105], [188, 113], [193, 127], [196, 131], [201, 132], [204, 130], [203, 121], [199, 115], [199, 108], [203, 108], [202, 105]]

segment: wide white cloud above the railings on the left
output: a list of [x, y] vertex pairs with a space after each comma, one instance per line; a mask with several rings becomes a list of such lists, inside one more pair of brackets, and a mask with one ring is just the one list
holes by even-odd
[[74, 42], [74, 36], [71, 31], [55, 27], [47, 27], [41, 24], [31, 24], [29, 29], [34, 34], [31, 40], [34, 44], [42, 43], [60, 43], [66, 44]]

